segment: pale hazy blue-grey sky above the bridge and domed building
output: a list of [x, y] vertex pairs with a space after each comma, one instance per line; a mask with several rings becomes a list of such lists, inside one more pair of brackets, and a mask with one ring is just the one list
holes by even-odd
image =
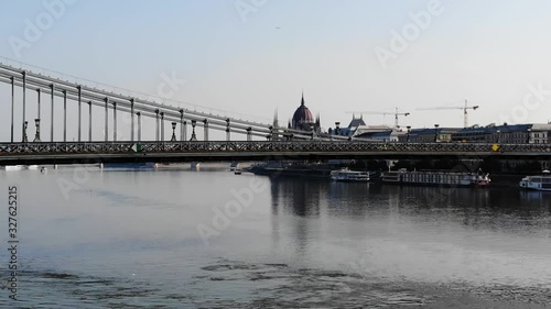
[[[415, 109], [465, 99], [480, 106], [469, 124], [551, 120], [548, 0], [66, 0], [50, 13], [60, 1], [0, 1], [0, 56], [150, 95], [174, 74], [173, 99], [264, 122], [276, 109], [287, 122], [302, 90], [324, 128], [395, 107], [411, 112], [402, 125], [463, 126], [461, 110]], [[9, 95], [0, 85], [1, 140]]]

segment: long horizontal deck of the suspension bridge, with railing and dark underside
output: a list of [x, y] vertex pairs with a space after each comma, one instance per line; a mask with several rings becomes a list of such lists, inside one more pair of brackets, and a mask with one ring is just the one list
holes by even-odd
[[545, 144], [366, 142], [0, 143], [0, 165], [337, 158], [551, 159]]

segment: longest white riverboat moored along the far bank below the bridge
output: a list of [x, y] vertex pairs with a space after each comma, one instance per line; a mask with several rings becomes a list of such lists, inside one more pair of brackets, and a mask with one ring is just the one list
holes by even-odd
[[382, 183], [412, 186], [487, 187], [488, 174], [406, 169], [382, 173]]

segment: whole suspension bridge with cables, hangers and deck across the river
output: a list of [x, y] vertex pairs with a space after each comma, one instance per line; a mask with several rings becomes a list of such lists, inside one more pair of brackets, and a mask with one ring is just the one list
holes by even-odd
[[[388, 143], [329, 135], [314, 130], [293, 130], [279, 126], [277, 121], [261, 123], [168, 106], [2, 63], [0, 82], [11, 86], [10, 141], [0, 143], [0, 165], [303, 158], [551, 158], [551, 148], [547, 144]], [[17, 91], [21, 93], [20, 100], [15, 100]], [[33, 96], [36, 98], [35, 103], [29, 101], [30, 91], [36, 93]], [[63, 104], [62, 114], [56, 112], [60, 100]], [[44, 108], [47, 103], [50, 107]], [[76, 141], [67, 141], [68, 103], [77, 107]], [[31, 109], [31, 104], [36, 112], [33, 139], [28, 135], [28, 109]], [[15, 107], [22, 109], [19, 121], [14, 119]], [[93, 107], [102, 110], [99, 115], [104, 118], [102, 121], [93, 118]], [[50, 111], [46, 115], [50, 118], [47, 137], [41, 132], [42, 110]], [[130, 115], [126, 129], [130, 133], [129, 139], [123, 141], [118, 139], [119, 135], [126, 135], [119, 132], [119, 113]], [[83, 115], [88, 118], [87, 130], [83, 128]], [[63, 123], [62, 139], [55, 139], [60, 134], [54, 132], [58, 118]], [[154, 141], [142, 141], [142, 118], [154, 119]], [[112, 124], [111, 132], [109, 123]], [[172, 129], [170, 139], [164, 136], [166, 123]], [[94, 124], [102, 126], [100, 141], [93, 139]], [[203, 128], [203, 141], [197, 140], [197, 126]], [[18, 141], [15, 130], [21, 130]], [[225, 132], [226, 140], [209, 141], [210, 130]], [[246, 135], [246, 141], [233, 141], [231, 134]]]

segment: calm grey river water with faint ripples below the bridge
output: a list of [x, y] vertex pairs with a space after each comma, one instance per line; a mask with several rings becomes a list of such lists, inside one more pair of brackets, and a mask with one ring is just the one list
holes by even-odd
[[0, 184], [0, 247], [8, 185], [21, 202], [21, 301], [2, 289], [6, 308], [551, 302], [551, 194], [74, 168]]

